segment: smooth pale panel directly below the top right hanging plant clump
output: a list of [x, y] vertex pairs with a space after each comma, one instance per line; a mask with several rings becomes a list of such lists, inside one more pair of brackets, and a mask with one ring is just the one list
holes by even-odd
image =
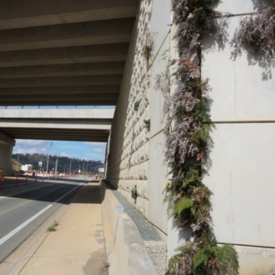
[[[232, 2], [233, 3], [233, 2]], [[228, 33], [232, 38], [243, 17], [230, 19]], [[209, 42], [209, 41], [208, 41]], [[229, 43], [223, 50], [208, 49], [202, 63], [203, 78], [210, 78], [211, 118], [221, 121], [275, 120], [275, 69], [273, 78], [262, 79], [263, 68], [249, 65], [247, 52], [233, 61]]]

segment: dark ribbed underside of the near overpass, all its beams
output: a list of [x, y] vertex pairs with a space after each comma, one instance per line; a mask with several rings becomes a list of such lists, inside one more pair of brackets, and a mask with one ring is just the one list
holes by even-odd
[[138, 0], [3, 0], [0, 104], [115, 105]]

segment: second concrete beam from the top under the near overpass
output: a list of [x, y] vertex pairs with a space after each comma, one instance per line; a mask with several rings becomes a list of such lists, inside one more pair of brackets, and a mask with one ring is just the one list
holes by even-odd
[[0, 31], [0, 51], [124, 43], [134, 18], [89, 21]]

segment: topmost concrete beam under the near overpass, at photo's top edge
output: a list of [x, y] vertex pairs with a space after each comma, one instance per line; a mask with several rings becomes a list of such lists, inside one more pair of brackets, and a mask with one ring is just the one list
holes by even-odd
[[135, 17], [138, 0], [2, 0], [0, 30]]

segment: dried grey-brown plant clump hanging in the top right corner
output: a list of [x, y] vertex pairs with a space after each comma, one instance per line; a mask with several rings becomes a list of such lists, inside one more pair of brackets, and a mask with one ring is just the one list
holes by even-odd
[[[270, 2], [270, 1], [268, 1]], [[263, 79], [272, 78], [272, 67], [275, 67], [275, 1], [270, 7], [267, 2], [261, 4], [254, 0], [254, 7], [266, 8], [250, 17], [244, 17], [239, 30], [236, 30], [231, 41], [233, 58], [242, 51], [248, 52], [250, 64], [258, 63], [264, 68]]]

